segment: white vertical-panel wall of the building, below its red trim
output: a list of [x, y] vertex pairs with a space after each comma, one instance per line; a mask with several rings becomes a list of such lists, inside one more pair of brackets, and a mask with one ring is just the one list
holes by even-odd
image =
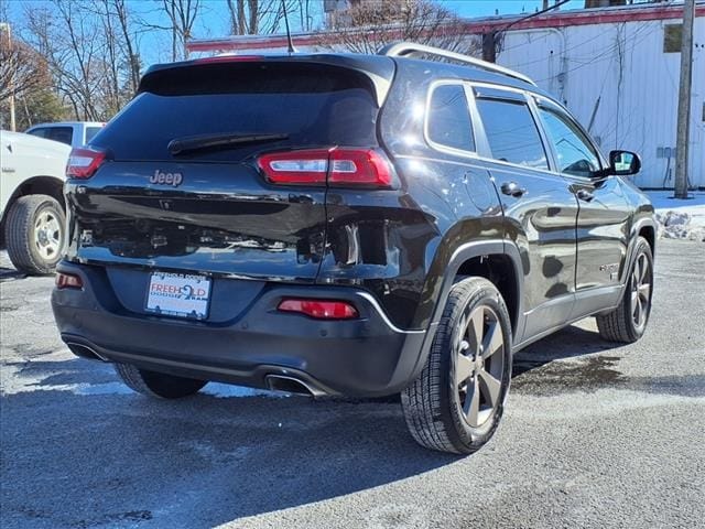
[[[680, 20], [510, 31], [498, 63], [525, 73], [590, 127], [605, 153], [623, 148], [641, 154], [641, 187], [673, 186], [681, 54], [663, 53], [663, 26]], [[705, 186], [705, 18], [695, 20], [690, 180]], [[673, 154], [674, 156], [674, 154]], [[664, 184], [664, 177], [665, 184]]]

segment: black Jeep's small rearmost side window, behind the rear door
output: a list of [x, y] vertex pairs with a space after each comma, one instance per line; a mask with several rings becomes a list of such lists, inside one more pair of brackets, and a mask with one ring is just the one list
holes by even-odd
[[426, 133], [433, 143], [475, 151], [473, 125], [463, 85], [440, 85], [431, 94]]

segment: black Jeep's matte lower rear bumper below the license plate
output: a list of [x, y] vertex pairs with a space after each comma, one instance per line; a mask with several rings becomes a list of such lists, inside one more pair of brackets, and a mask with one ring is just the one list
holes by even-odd
[[[314, 395], [383, 396], [417, 375], [423, 331], [403, 331], [376, 300], [354, 288], [268, 283], [237, 317], [217, 323], [132, 312], [100, 267], [62, 262], [82, 290], [54, 290], [62, 339], [78, 356], [251, 387], [269, 375], [301, 380]], [[359, 320], [317, 321], [276, 311], [283, 296], [352, 302]]]

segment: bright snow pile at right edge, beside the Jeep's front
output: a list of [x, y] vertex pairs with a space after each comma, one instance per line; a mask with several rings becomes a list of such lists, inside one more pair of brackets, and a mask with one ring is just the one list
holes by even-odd
[[705, 193], [691, 194], [685, 201], [671, 198], [672, 191], [647, 194], [655, 208], [660, 238], [705, 241]]

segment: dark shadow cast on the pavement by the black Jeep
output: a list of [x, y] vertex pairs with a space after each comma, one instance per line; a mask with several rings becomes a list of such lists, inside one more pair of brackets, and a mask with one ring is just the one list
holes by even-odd
[[[568, 327], [517, 356], [512, 391], [550, 379], [541, 370], [554, 359], [607, 348], [596, 333]], [[40, 358], [14, 367], [34, 382], [1, 399], [7, 527], [212, 527], [458, 460], [417, 446], [399, 403], [213, 395], [159, 401], [115, 390], [101, 364]]]

